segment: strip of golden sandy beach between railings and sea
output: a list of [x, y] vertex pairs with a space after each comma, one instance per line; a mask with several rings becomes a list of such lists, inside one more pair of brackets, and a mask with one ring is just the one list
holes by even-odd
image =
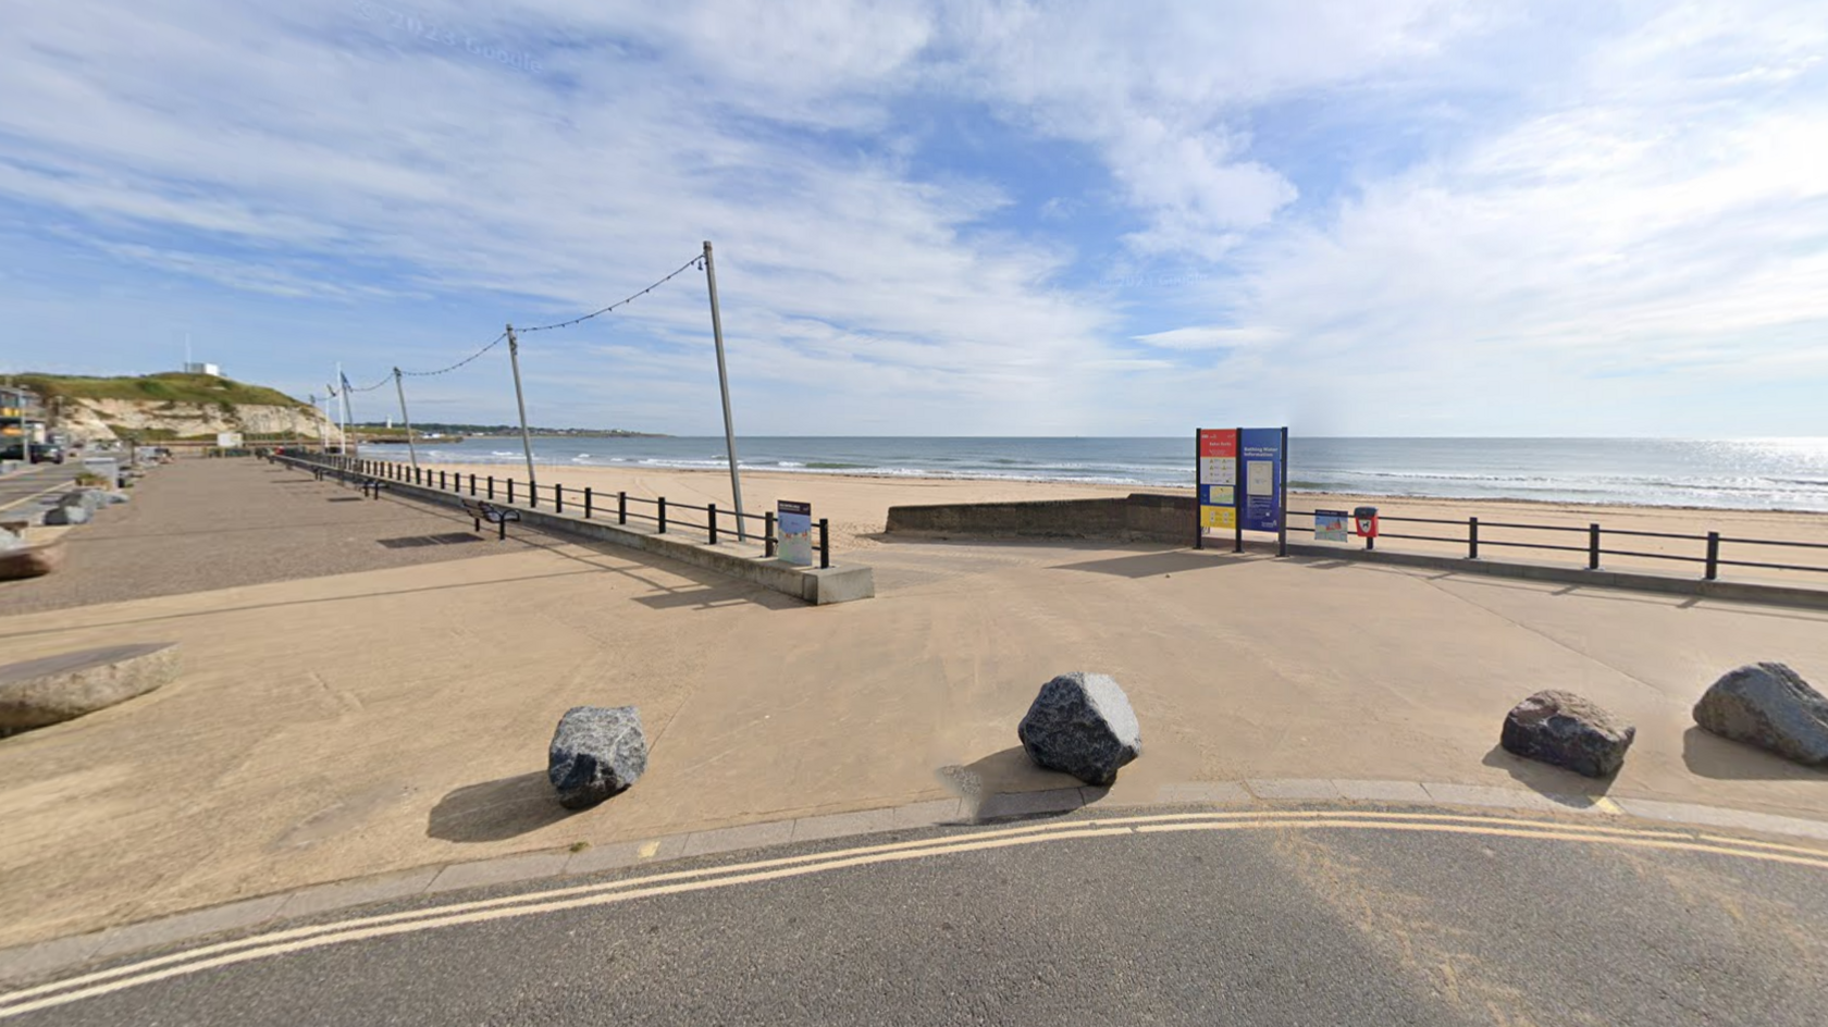
[[[391, 455], [391, 453], [388, 453]], [[495, 475], [497, 481], [512, 477], [526, 481], [525, 464], [426, 464], [433, 470], [446, 470], [462, 475]], [[585, 468], [537, 464], [541, 488], [563, 484], [567, 490], [590, 488], [601, 495], [614, 495], [618, 490], [629, 495], [658, 497], [669, 501], [731, 508], [731, 488], [728, 471], [700, 470], [649, 470], [649, 468]], [[881, 545], [883, 524], [890, 506], [929, 504], [929, 503], [1015, 503], [1046, 499], [1088, 499], [1121, 497], [1133, 492], [1192, 495], [1181, 488], [1141, 488], [1111, 484], [1075, 484], [1046, 481], [989, 481], [989, 479], [918, 479], [918, 477], [846, 477], [812, 475], [782, 471], [744, 471], [742, 475], [744, 508], [749, 512], [771, 510], [781, 499], [806, 501], [813, 504], [813, 517], [832, 521], [832, 545], [845, 550], [866, 550]], [[1720, 532], [1720, 557], [1751, 563], [1791, 563], [1799, 566], [1821, 566], [1824, 572], [1784, 572], [1770, 568], [1724, 566], [1722, 577], [1748, 581], [1784, 581], [1791, 585], [1828, 587], [1828, 550], [1749, 546], [1731, 539], [1780, 539], [1799, 543], [1828, 543], [1828, 514], [1799, 512], [1755, 512], [1755, 510], [1700, 510], [1685, 506], [1607, 506], [1590, 503], [1532, 503], [1532, 501], [1492, 501], [1492, 499], [1415, 499], [1389, 495], [1318, 495], [1294, 493], [1291, 497], [1291, 541], [1311, 541], [1311, 534], [1300, 528], [1311, 526], [1303, 514], [1313, 510], [1345, 510], [1358, 504], [1376, 506], [1382, 517], [1419, 517], [1429, 521], [1453, 521], [1451, 524], [1420, 524], [1387, 521], [1386, 535], [1431, 535], [1450, 541], [1398, 539], [1386, 537], [1380, 548], [1464, 556], [1468, 517], [1481, 521], [1481, 557], [1515, 559], [1526, 563], [1563, 563], [1587, 565], [1587, 528], [1601, 524], [1605, 550], [1631, 550], [1642, 554], [1667, 554], [1687, 557], [1687, 561], [1649, 559], [1607, 554], [1603, 566], [1656, 570], [1662, 574], [1700, 577], [1706, 543], [1700, 539], [1707, 532]], [[1501, 524], [1532, 524], [1561, 530], [1504, 528]], [[1695, 539], [1660, 539], [1642, 535], [1612, 535], [1612, 532], [1660, 532], [1674, 535], [1696, 535]], [[1270, 535], [1247, 534], [1250, 543], [1263, 543]], [[1576, 546], [1581, 552], [1515, 548], [1503, 543], [1537, 543]], [[1362, 545], [1362, 543], [1349, 543]]]

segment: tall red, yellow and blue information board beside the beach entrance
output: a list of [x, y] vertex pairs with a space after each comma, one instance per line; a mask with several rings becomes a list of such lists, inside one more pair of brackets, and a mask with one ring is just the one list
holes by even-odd
[[1205, 548], [1206, 530], [1230, 528], [1232, 552], [1245, 550], [1245, 532], [1276, 532], [1276, 556], [1289, 556], [1289, 429], [1201, 428], [1194, 433], [1194, 488]]

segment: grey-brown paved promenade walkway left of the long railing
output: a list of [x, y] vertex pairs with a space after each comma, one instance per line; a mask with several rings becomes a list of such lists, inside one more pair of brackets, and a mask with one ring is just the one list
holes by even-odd
[[254, 459], [183, 459], [154, 468], [132, 495], [66, 535], [62, 570], [0, 583], [0, 616], [525, 548], [472, 534], [450, 512], [362, 501]]

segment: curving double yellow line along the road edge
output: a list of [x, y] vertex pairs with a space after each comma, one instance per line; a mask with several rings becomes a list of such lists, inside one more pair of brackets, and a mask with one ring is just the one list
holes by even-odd
[[947, 835], [938, 839], [874, 844], [846, 848], [837, 852], [819, 852], [781, 859], [762, 859], [731, 866], [713, 866], [702, 870], [675, 870], [667, 873], [649, 873], [611, 881], [601, 884], [574, 884], [567, 888], [548, 888], [543, 892], [508, 895], [501, 899], [483, 899], [470, 903], [450, 903], [442, 906], [409, 910], [386, 916], [355, 917], [313, 926], [276, 930], [238, 941], [205, 945], [185, 952], [139, 959], [108, 970], [95, 970], [62, 981], [51, 981], [0, 996], [0, 1020], [22, 1016], [40, 1009], [51, 1009], [97, 998], [117, 990], [150, 985], [172, 978], [199, 974], [238, 963], [252, 963], [272, 956], [287, 956], [345, 941], [369, 941], [395, 934], [435, 930], [441, 926], [461, 926], [488, 923], [508, 917], [537, 916], [583, 906], [607, 906], [631, 899], [649, 899], [658, 895], [678, 895], [686, 892], [704, 892], [709, 888], [729, 888], [735, 884], [753, 884], [760, 881], [779, 881], [784, 877], [802, 877], [852, 866], [874, 866], [901, 863], [909, 859], [929, 859], [936, 855], [956, 855], [967, 852], [985, 852], [996, 848], [1016, 848], [1029, 844], [1058, 842], [1071, 839], [1100, 837], [1141, 837], [1172, 831], [1238, 831], [1238, 830], [1380, 830], [1380, 831], [1429, 831], [1450, 835], [1484, 835], [1512, 839], [1572, 841], [1592, 844], [1616, 844], [1634, 848], [1662, 848], [1676, 852], [1706, 852], [1716, 855], [1737, 855], [1742, 859], [1760, 859], [1768, 863], [1786, 863], [1793, 866], [1813, 866], [1828, 870], [1828, 852], [1786, 846], [1777, 842], [1759, 842], [1731, 839], [1685, 830], [1658, 828], [1621, 828], [1607, 824], [1578, 824], [1568, 821], [1525, 821], [1508, 817], [1481, 817], [1455, 813], [1386, 813], [1371, 810], [1287, 810], [1287, 811], [1228, 811], [1228, 813], [1153, 813], [1135, 817], [1099, 817], [1084, 821], [1051, 821], [1046, 824], [1027, 824], [989, 831], [971, 831], [965, 835]]

